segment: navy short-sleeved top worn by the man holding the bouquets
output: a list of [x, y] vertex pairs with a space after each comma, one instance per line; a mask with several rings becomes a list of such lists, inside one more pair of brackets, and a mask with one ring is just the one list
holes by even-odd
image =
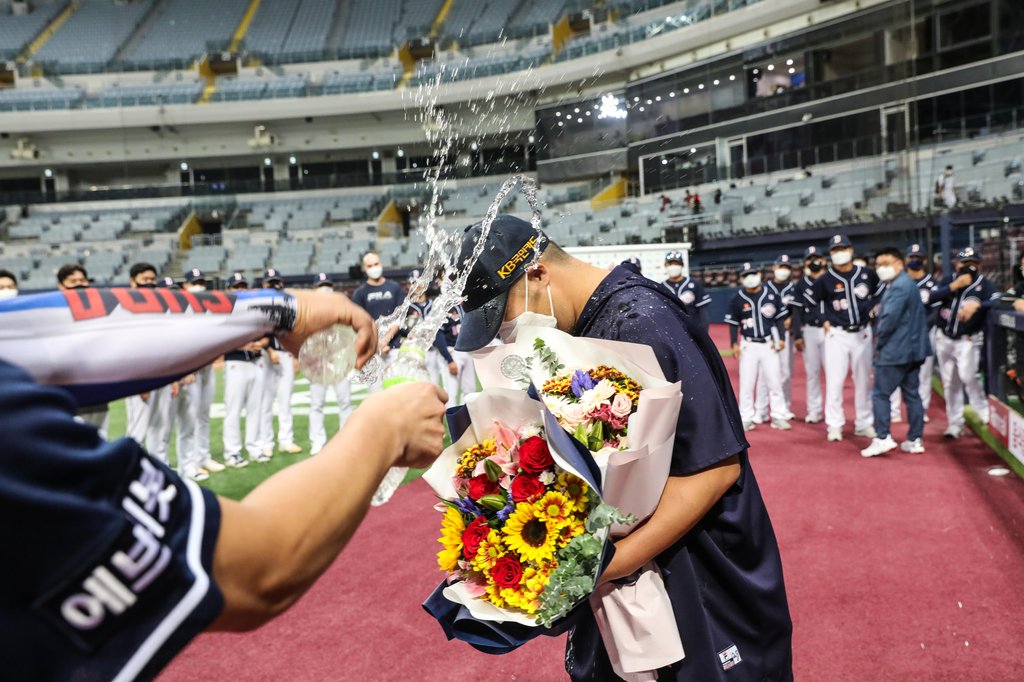
[[[644, 314], [624, 316], [623, 306]], [[682, 382], [670, 475], [692, 474], [730, 458], [740, 467], [736, 484], [654, 559], [686, 648], [686, 657], [659, 671], [658, 679], [792, 679], [793, 626], [778, 545], [715, 344], [665, 287], [624, 267], [597, 288], [572, 334], [649, 345], [666, 379]], [[581, 612], [569, 635], [566, 670], [573, 680], [615, 679], [590, 609]]]

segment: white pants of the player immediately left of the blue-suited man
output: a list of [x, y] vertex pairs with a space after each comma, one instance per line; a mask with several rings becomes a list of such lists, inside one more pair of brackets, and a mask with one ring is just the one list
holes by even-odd
[[830, 429], [846, 424], [843, 387], [846, 375], [853, 375], [854, 428], [874, 425], [871, 410], [871, 328], [847, 332], [833, 327], [825, 333], [825, 425]]

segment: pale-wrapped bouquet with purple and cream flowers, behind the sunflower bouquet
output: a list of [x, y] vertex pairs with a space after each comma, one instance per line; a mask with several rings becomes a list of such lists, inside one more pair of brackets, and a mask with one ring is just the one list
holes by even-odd
[[[631, 516], [612, 525], [612, 538], [654, 512], [669, 477], [682, 393], [665, 380], [649, 346], [524, 329], [515, 343], [488, 348], [475, 364], [485, 387], [540, 387], [552, 418], [593, 457], [603, 500]], [[620, 677], [654, 679], [653, 671], [683, 657], [653, 562], [627, 585], [599, 586], [590, 604]]]

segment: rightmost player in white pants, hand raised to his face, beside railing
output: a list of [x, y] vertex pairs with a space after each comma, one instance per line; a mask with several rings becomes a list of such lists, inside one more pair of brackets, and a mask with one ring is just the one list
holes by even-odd
[[978, 376], [988, 309], [999, 290], [983, 275], [978, 253], [968, 247], [956, 254], [956, 271], [932, 290], [929, 300], [940, 301], [935, 355], [946, 396], [947, 438], [964, 431], [964, 392], [982, 423], [988, 423], [988, 398]]

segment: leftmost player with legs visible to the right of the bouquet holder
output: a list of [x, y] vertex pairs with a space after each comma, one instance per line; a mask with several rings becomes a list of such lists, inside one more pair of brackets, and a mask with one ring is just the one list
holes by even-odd
[[772, 289], [762, 285], [761, 273], [750, 263], [739, 272], [742, 288], [729, 303], [725, 322], [733, 355], [739, 358], [739, 417], [743, 430], [754, 428], [754, 390], [758, 381], [768, 388], [771, 426], [791, 429], [785, 421], [785, 399], [779, 377], [778, 353], [785, 348], [779, 336], [779, 322], [788, 310]]

